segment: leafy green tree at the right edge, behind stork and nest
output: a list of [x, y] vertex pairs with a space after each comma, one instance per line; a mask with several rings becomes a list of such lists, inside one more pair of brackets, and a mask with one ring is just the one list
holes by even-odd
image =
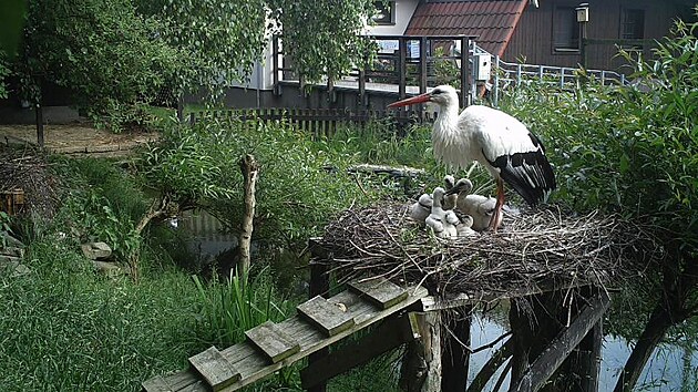
[[635, 289], [647, 296], [646, 307], [624, 312], [644, 330], [617, 391], [635, 385], [673, 326], [698, 316], [696, 29], [698, 23], [678, 21], [658, 42], [653, 61], [634, 61], [622, 51], [634, 65], [634, 86], [581, 82], [573, 93], [532, 86], [506, 104], [553, 149], [558, 200], [577, 210], [598, 208], [644, 220], [664, 243], [668, 256], [650, 266]]

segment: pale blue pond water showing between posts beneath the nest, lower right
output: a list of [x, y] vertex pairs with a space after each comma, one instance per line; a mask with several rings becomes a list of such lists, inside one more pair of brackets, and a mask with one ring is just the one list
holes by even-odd
[[[486, 344], [507, 330], [502, 323], [490, 318], [475, 316], [471, 329], [473, 348]], [[470, 380], [480, 371], [484, 362], [499, 345], [483, 350], [471, 357]], [[613, 391], [618, 374], [630, 355], [630, 345], [623, 338], [605, 336], [602, 348], [599, 391]], [[491, 391], [493, 385], [489, 385]], [[509, 388], [509, 376], [502, 390]], [[649, 365], [645, 367], [637, 391], [698, 391], [698, 351], [686, 350], [675, 344], [660, 344], [653, 353]]]

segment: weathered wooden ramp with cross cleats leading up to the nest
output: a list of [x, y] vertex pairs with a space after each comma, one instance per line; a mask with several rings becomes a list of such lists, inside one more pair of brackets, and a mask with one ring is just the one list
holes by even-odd
[[[370, 293], [362, 291], [361, 287]], [[376, 296], [380, 296], [382, 306], [376, 299], [370, 299]], [[386, 281], [384, 285], [355, 285], [351, 290], [329, 299], [316, 297], [299, 306], [298, 310], [304, 316], [294, 316], [278, 324], [259, 326], [246, 333], [247, 341], [227, 349], [218, 351], [209, 348], [189, 359], [189, 369], [152, 378], [143, 382], [143, 389], [148, 392], [234, 391], [383, 320], [427, 296], [425, 288], [400, 289]], [[332, 309], [333, 317], [338, 319], [322, 319], [328, 309]], [[322, 321], [317, 321], [320, 319]], [[337, 324], [341, 327], [335, 328]], [[280, 337], [280, 340], [276, 341], [275, 337]]]

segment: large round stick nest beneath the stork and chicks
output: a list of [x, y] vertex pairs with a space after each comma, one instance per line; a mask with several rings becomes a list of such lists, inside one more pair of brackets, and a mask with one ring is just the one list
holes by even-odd
[[491, 300], [585, 285], [606, 289], [664, 257], [636, 224], [555, 207], [505, 215], [496, 233], [459, 239], [437, 238], [409, 217], [407, 205], [350, 209], [327, 227], [320, 245], [340, 281], [383, 277], [444, 297]]

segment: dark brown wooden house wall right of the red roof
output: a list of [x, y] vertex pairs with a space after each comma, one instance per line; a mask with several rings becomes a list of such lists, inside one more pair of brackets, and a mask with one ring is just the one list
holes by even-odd
[[[674, 18], [682, 9], [670, 1], [659, 0], [588, 0], [589, 22], [587, 38], [618, 39], [620, 37], [620, 17], [624, 8], [645, 10], [645, 38], [657, 39], [666, 35]], [[577, 0], [541, 0], [540, 8], [528, 6], [521, 17], [519, 25], [504, 51], [502, 60], [530, 64], [556, 66], [577, 66], [582, 63], [578, 52], [556, 53], [553, 50], [553, 13], [558, 6], [576, 7]], [[615, 58], [617, 49], [613, 44], [594, 44], [587, 49], [587, 69], [627, 71], [624, 61]], [[645, 48], [644, 55], [651, 54]]]

